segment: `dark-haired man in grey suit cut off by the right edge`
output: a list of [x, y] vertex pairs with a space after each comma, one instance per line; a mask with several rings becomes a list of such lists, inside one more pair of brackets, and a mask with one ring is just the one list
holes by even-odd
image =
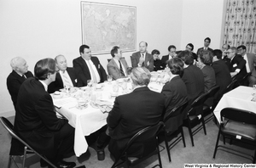
[[243, 59], [247, 61], [246, 70], [247, 73], [252, 72], [248, 78], [249, 87], [253, 87], [256, 84], [256, 70], [254, 64], [256, 64], [256, 56], [253, 53], [247, 53], [247, 48], [244, 45], [237, 47], [238, 54], [241, 54]]

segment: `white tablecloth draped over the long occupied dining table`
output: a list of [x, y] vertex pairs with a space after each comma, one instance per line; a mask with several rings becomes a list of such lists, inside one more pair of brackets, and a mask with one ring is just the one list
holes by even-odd
[[[108, 82], [103, 83], [102, 89], [92, 89], [91, 94], [100, 94], [102, 96], [101, 99], [108, 100], [110, 102], [114, 102], [115, 98], [110, 97], [110, 93], [113, 92], [113, 83], [116, 81], [112, 81], [111, 84]], [[128, 91], [131, 92], [131, 82], [127, 82]], [[163, 85], [158, 84], [156, 82], [149, 83], [148, 87], [154, 92], [160, 92]], [[83, 87], [87, 89], [87, 87]], [[79, 92], [83, 92], [79, 90]], [[86, 92], [86, 91], [84, 91]], [[121, 87], [119, 87], [118, 95], [124, 94]], [[53, 98], [54, 103], [56, 100], [61, 100], [61, 98]], [[73, 101], [76, 101], [76, 98], [73, 98]], [[88, 144], [84, 138], [84, 136], [89, 136], [90, 133], [96, 132], [102, 126], [107, 124], [108, 113], [102, 113], [100, 109], [93, 108], [88, 103], [88, 107], [85, 109], [78, 109], [76, 105], [70, 106], [62, 106], [61, 109], [56, 109], [61, 115], [64, 115], [68, 123], [75, 128], [75, 137], [74, 137], [74, 152], [76, 156], [80, 156], [84, 154], [88, 148]]]

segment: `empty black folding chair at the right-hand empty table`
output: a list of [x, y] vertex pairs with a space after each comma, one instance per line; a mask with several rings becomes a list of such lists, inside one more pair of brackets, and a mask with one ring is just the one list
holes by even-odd
[[[221, 123], [218, 129], [218, 137], [214, 149], [213, 160], [215, 159], [218, 148], [229, 149], [224, 151], [233, 151], [236, 155], [237, 153], [241, 153], [241, 151], [234, 148], [227, 148], [226, 146], [218, 145], [220, 135], [223, 135], [224, 137], [224, 144], [225, 138], [230, 138], [234, 141], [251, 144], [254, 148], [256, 147], [256, 114], [242, 109], [225, 108], [221, 110], [220, 116]], [[251, 156], [253, 158], [253, 164], [255, 164], [255, 156], [256, 150], [254, 151], [254, 155]]]

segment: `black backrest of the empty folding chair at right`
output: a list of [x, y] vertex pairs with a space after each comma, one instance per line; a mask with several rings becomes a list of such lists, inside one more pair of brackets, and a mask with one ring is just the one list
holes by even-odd
[[247, 124], [256, 125], [256, 114], [252, 111], [235, 108], [224, 108], [220, 111], [221, 120], [235, 120]]

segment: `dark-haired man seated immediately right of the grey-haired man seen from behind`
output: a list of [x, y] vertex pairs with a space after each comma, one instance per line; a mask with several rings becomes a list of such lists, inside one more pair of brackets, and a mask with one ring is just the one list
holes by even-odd
[[[183, 74], [183, 61], [179, 58], [173, 58], [167, 61], [167, 65], [169, 67], [168, 74], [171, 76], [171, 80], [166, 83], [161, 91], [166, 97], [165, 118], [170, 114], [173, 108], [185, 103], [188, 97], [186, 85], [180, 77]], [[179, 120], [173, 117], [168, 120], [165, 125], [167, 132], [174, 132], [182, 123], [179, 123]]]

